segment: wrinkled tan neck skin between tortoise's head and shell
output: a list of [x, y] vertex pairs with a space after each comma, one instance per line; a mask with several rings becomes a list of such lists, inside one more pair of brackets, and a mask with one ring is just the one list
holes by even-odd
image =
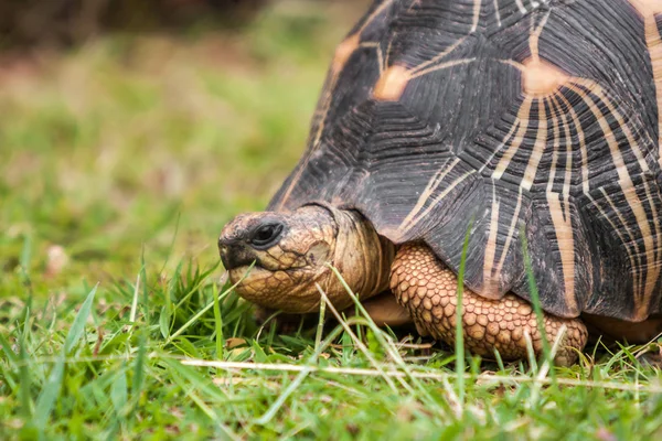
[[[342, 275], [352, 292], [361, 300], [388, 289], [391, 263], [395, 257], [393, 244], [378, 236], [371, 223], [356, 212], [330, 209], [335, 219], [338, 235], [333, 265]], [[329, 269], [327, 267], [327, 269]], [[337, 308], [352, 304], [351, 298], [338, 277], [329, 270], [322, 289]]]

